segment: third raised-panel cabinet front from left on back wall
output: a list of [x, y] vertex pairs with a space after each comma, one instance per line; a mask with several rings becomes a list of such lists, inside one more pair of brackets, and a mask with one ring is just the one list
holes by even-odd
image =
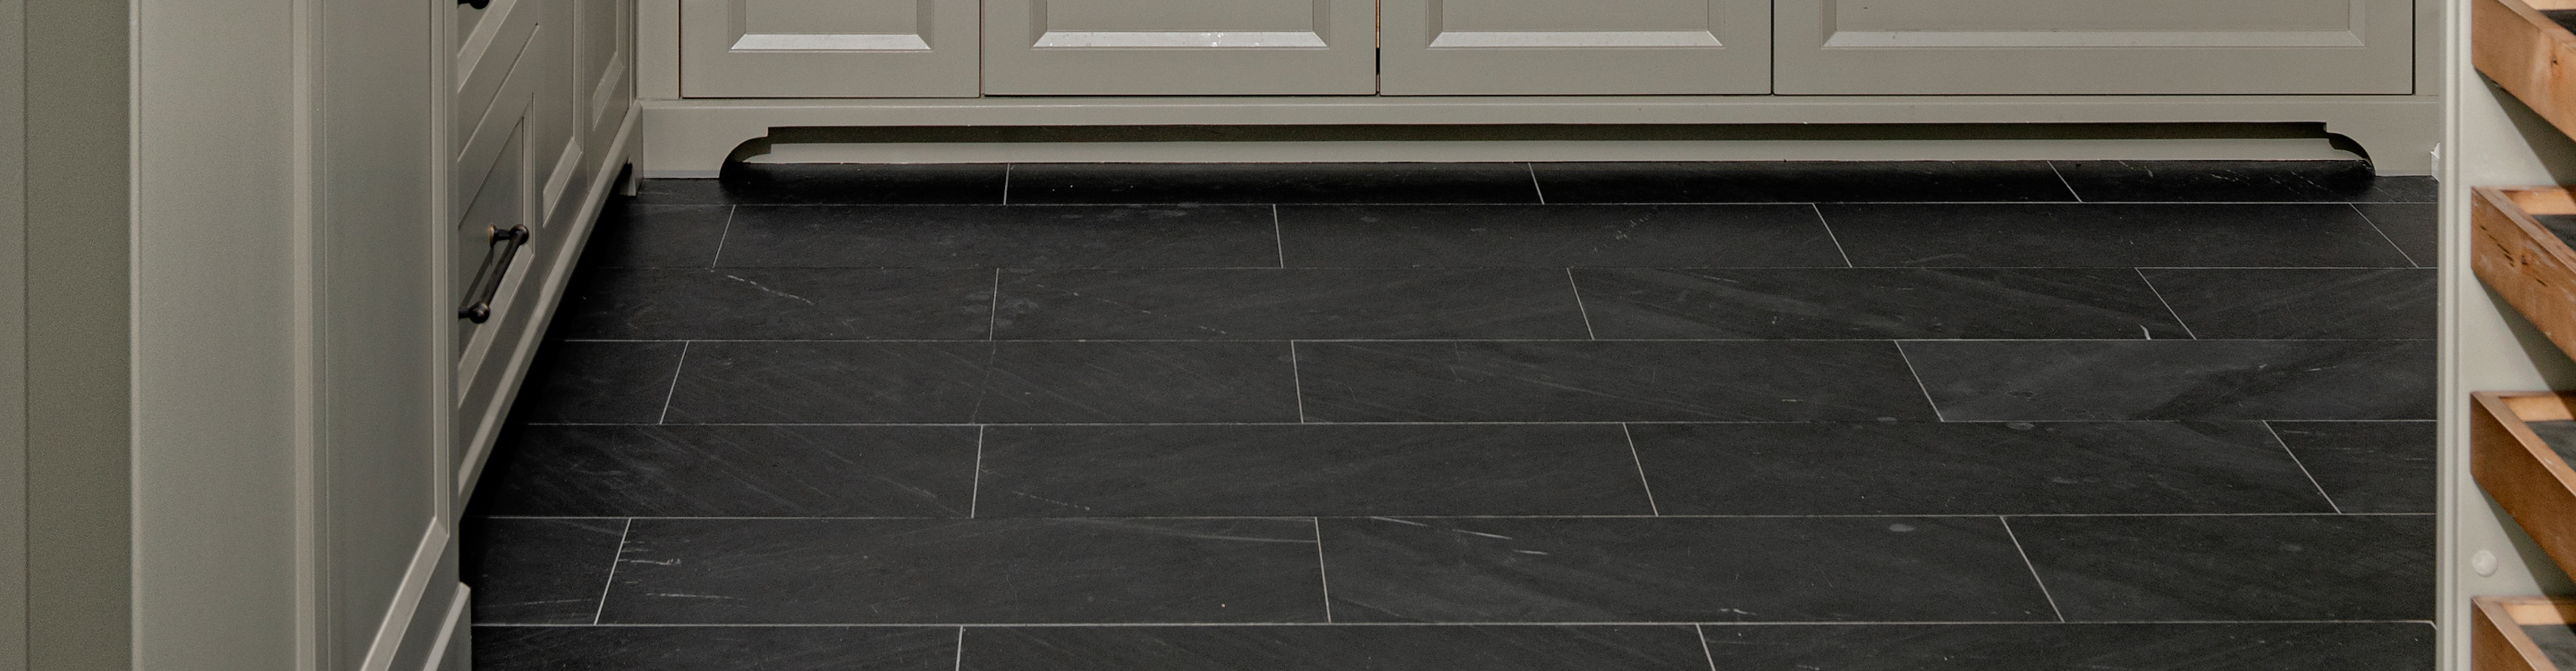
[[1386, 0], [1386, 95], [1770, 93], [1770, 0]]

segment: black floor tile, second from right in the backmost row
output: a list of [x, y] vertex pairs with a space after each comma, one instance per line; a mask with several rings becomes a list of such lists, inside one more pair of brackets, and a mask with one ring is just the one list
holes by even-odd
[[2048, 162], [1540, 162], [1548, 203], [2074, 201]]

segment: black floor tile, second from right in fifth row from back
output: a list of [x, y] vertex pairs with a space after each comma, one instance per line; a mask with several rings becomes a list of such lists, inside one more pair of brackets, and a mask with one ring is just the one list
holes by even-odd
[[1631, 432], [1664, 514], [2334, 512], [2259, 422]]

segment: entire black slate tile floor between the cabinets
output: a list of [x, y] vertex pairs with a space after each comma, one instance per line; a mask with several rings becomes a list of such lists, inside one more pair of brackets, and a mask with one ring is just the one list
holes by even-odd
[[469, 519], [515, 668], [2432, 668], [2432, 183], [734, 165]]

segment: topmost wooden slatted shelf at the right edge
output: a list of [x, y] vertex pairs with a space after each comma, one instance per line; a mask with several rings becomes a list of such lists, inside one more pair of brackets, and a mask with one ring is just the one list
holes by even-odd
[[2576, 0], [2473, 0], [2473, 54], [2488, 80], [2540, 111], [2561, 134], [2576, 136], [2576, 33], [2548, 10], [2576, 10]]

